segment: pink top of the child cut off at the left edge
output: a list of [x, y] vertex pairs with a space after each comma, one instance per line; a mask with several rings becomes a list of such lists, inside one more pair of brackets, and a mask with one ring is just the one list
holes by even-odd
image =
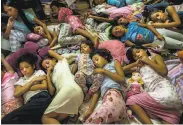
[[1, 104], [5, 104], [14, 97], [14, 83], [18, 81], [17, 73], [5, 73], [1, 82]]

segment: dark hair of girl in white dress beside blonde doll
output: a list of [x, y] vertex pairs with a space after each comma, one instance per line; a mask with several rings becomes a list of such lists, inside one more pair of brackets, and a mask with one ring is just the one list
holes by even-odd
[[147, 55], [150, 56], [150, 52], [148, 51], [148, 49], [144, 46], [141, 45], [134, 45], [131, 48], [129, 48], [126, 52], [126, 56], [128, 58], [128, 60], [130, 61], [130, 63], [135, 62], [136, 60], [133, 58], [133, 49], [144, 49], [147, 50]]

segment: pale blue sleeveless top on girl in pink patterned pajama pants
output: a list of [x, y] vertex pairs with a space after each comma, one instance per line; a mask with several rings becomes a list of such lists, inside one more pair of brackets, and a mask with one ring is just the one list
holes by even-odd
[[[115, 67], [114, 67], [114, 61], [112, 61], [111, 63], [106, 64], [104, 66], [104, 69], [115, 73], [116, 70], [115, 70]], [[104, 81], [101, 85], [101, 96], [103, 97], [109, 89], [117, 89], [122, 93], [122, 87], [120, 86], [120, 84], [115, 82], [114, 80], [112, 80], [110, 77], [105, 76]]]

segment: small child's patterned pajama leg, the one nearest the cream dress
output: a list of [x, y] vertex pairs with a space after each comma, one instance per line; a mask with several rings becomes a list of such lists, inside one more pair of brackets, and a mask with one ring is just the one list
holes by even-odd
[[74, 77], [76, 83], [82, 88], [83, 93], [86, 95], [88, 88], [86, 86], [86, 76], [84, 73], [78, 71]]

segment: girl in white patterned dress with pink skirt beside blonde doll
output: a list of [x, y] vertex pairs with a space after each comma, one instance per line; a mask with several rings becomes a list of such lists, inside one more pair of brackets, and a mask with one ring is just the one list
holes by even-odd
[[167, 80], [163, 58], [160, 55], [151, 56], [141, 46], [130, 48], [127, 57], [132, 63], [129, 69], [139, 67], [145, 92], [129, 97], [126, 105], [142, 124], [152, 124], [149, 117], [160, 118], [162, 123], [178, 124], [183, 105], [176, 89]]

